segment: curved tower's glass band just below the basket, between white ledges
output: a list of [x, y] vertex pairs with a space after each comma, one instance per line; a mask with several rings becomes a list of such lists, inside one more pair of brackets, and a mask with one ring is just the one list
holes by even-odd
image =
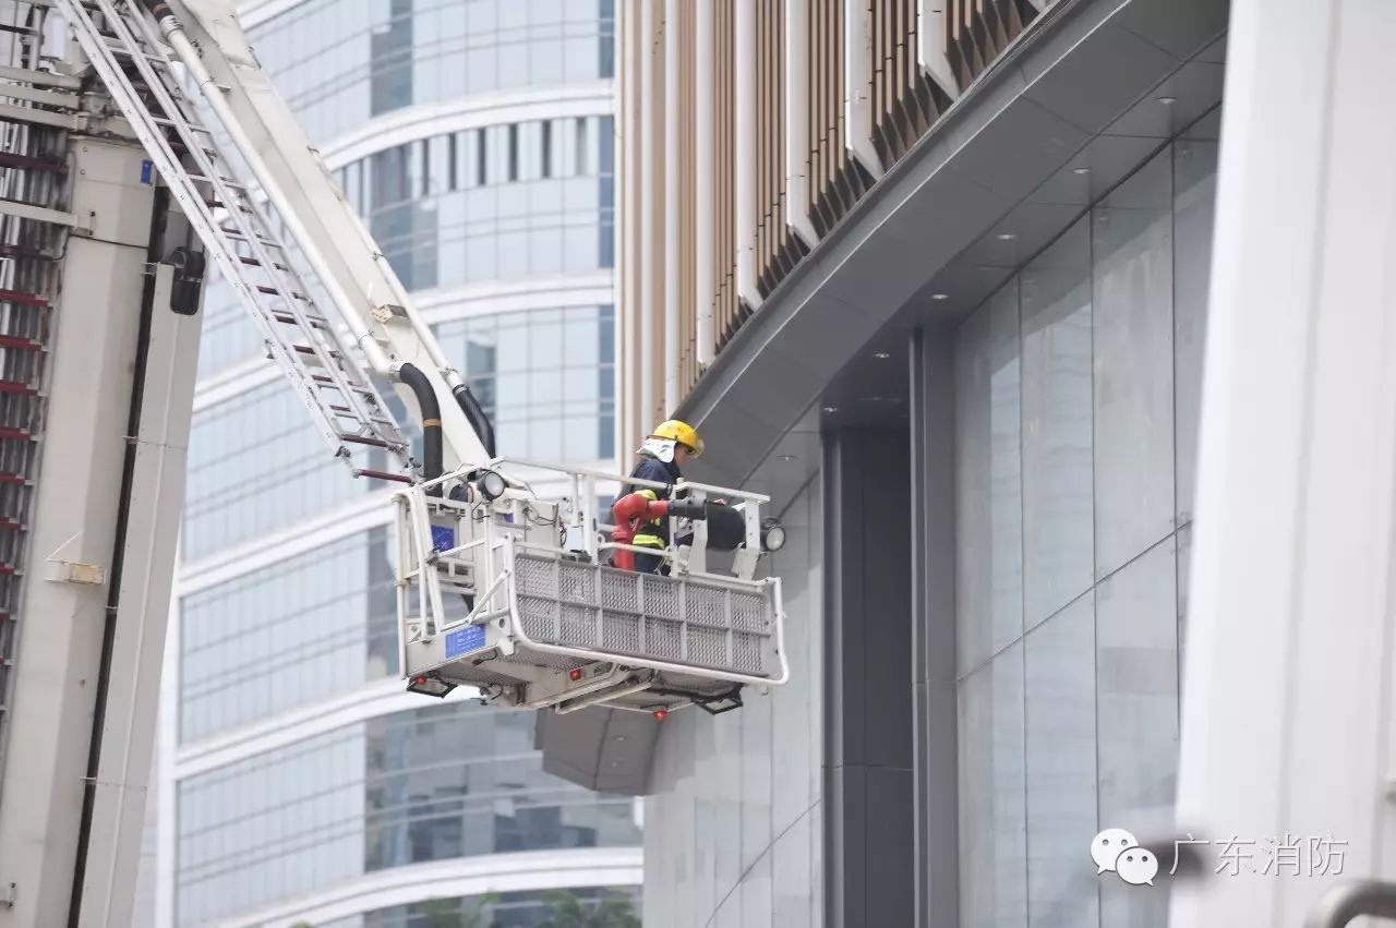
[[187, 777], [176, 924], [391, 867], [639, 843], [630, 797], [597, 795], [542, 763], [532, 713], [452, 702]]

